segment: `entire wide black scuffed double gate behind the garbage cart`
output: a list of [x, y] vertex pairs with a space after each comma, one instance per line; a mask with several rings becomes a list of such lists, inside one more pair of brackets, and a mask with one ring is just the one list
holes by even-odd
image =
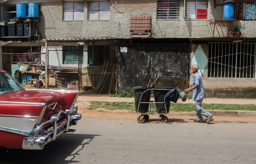
[[119, 89], [147, 87], [153, 73], [155, 87], [188, 86], [188, 44], [119, 44]]

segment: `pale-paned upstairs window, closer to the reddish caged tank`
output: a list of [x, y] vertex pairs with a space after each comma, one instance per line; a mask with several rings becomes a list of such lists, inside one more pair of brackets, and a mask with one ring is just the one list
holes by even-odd
[[109, 1], [88, 2], [88, 20], [109, 20]]

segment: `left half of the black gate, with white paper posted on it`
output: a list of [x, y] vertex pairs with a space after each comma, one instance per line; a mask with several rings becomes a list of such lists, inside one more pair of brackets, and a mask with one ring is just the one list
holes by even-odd
[[[119, 44], [119, 90], [149, 83], [149, 44]], [[125, 48], [122, 48], [125, 47]]]

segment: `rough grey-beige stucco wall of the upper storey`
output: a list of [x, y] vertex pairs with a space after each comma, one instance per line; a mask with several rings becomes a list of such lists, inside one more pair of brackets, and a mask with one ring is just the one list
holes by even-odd
[[[83, 21], [63, 21], [63, 2], [42, 2], [42, 21], [40, 32], [43, 38], [92, 38], [113, 37], [130, 38], [129, 17], [135, 14], [152, 15], [153, 38], [170, 37], [212, 37], [214, 22], [210, 19], [222, 19], [223, 6], [213, 6], [208, 2], [208, 20], [184, 20], [184, 1], [180, 1], [179, 20], [156, 20], [157, 0], [110, 0], [110, 20], [87, 20], [88, 2], [84, 2]], [[217, 0], [217, 3], [219, 0]], [[256, 21], [231, 22], [230, 30], [235, 26], [246, 29], [247, 37], [256, 37]], [[215, 37], [226, 37], [228, 21], [217, 21]]]

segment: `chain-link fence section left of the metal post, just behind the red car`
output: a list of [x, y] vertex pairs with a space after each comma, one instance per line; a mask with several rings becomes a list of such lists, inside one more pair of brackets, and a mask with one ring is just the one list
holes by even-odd
[[3, 69], [10, 73], [25, 89], [45, 88], [39, 83], [45, 71], [42, 61], [45, 53], [1, 53]]

